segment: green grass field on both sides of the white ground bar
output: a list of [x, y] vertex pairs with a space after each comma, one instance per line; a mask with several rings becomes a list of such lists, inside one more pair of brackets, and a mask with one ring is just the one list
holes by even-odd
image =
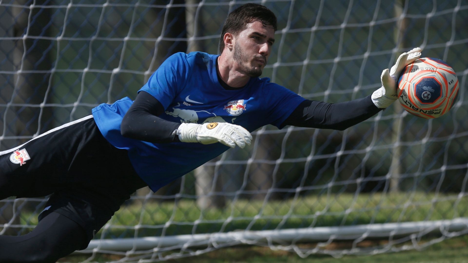
[[[439, 194], [422, 192], [401, 192], [393, 194], [338, 194], [327, 199], [326, 196], [300, 197], [300, 202], [293, 199], [283, 201], [270, 201], [263, 204], [263, 200], [237, 200], [228, 203], [224, 209], [210, 209], [200, 211], [196, 202], [190, 199], [181, 199], [177, 202], [152, 202], [143, 199], [132, 199], [119, 210], [111, 220], [110, 227], [96, 234], [96, 238], [105, 235], [105, 238], [132, 237], [134, 226], [139, 220], [145, 227], [141, 228], [137, 236], [161, 236], [164, 224], [172, 217], [171, 225], [166, 228], [166, 235], [213, 233], [223, 229], [223, 222], [229, 217], [233, 221], [224, 225], [225, 232], [235, 229], [246, 229], [252, 218], [259, 214], [262, 217], [250, 226], [251, 230], [274, 229], [282, 218], [290, 212], [285, 220], [284, 228], [307, 226], [353, 226], [359, 224], [425, 221], [439, 219], [453, 219], [467, 217], [468, 197], [458, 194]], [[296, 200], [297, 201], [297, 200]], [[142, 205], [144, 207], [142, 212]], [[264, 205], [264, 206], [263, 206]], [[263, 206], [263, 210], [262, 209]], [[345, 214], [346, 209], [352, 212]], [[292, 212], [291, 212], [292, 211]], [[321, 211], [321, 215], [314, 215]], [[33, 214], [22, 213], [22, 223], [36, 224]], [[201, 219], [194, 227], [194, 221]], [[210, 221], [210, 223], [208, 223]], [[130, 227], [129, 227], [130, 226]], [[424, 235], [420, 244], [424, 244], [440, 235]], [[384, 240], [362, 241], [359, 247], [376, 247], [385, 245]], [[351, 248], [351, 242], [332, 242], [327, 249]], [[461, 236], [444, 240], [431, 245], [423, 251], [409, 250], [398, 253], [379, 254], [374, 256], [343, 256], [346, 262], [468, 262], [468, 236]], [[411, 245], [410, 242], [397, 244]], [[298, 244], [300, 248], [314, 248], [314, 243]], [[177, 252], [177, 251], [173, 251]], [[172, 253], [172, 252], [165, 252]], [[167, 255], [167, 254], [165, 254]], [[91, 255], [73, 255], [60, 262], [82, 262]], [[96, 254], [89, 262], [109, 262], [122, 258], [118, 255]], [[301, 258], [294, 252], [271, 250], [268, 247], [237, 246], [221, 248], [189, 258], [170, 260], [168, 262], [182, 263], [215, 263], [215, 262], [336, 262], [336, 258], [329, 255], [313, 254]]]

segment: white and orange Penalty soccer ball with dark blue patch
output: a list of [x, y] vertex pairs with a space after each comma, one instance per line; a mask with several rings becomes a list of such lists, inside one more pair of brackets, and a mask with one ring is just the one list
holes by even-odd
[[459, 85], [447, 63], [437, 58], [419, 58], [403, 69], [398, 89], [398, 100], [406, 111], [431, 119], [452, 108]]

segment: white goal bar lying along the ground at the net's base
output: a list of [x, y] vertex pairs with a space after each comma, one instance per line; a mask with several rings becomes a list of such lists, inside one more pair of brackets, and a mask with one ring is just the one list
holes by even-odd
[[[191, 248], [200, 246], [209, 246], [216, 244], [213, 247], [227, 247], [235, 245], [268, 245], [274, 248], [292, 250], [292, 246], [278, 245], [281, 243], [300, 243], [300, 242], [326, 242], [328, 241], [346, 241], [367, 238], [388, 238], [403, 237], [402, 240], [395, 241], [387, 246], [380, 247], [380, 253], [388, 252], [395, 248], [393, 245], [403, 243], [405, 241], [417, 240], [418, 234], [443, 233], [459, 234], [468, 233], [468, 219], [458, 218], [452, 220], [435, 220], [435, 221], [419, 221], [419, 222], [403, 222], [403, 223], [384, 223], [384, 224], [369, 224], [358, 226], [321, 226], [309, 228], [290, 228], [280, 230], [263, 230], [263, 231], [238, 231], [227, 233], [212, 233], [212, 234], [182, 234], [167, 237], [142, 237], [142, 238], [123, 238], [118, 241], [112, 239], [103, 239], [100, 241], [91, 241], [88, 248], [78, 253], [91, 253], [94, 250], [103, 251], [132, 251], [132, 250], [153, 250], [159, 247], [160, 252], [164, 250], [174, 250], [174, 248]], [[432, 242], [422, 244], [421, 247], [431, 245]], [[289, 248], [287, 248], [289, 247]], [[322, 247], [322, 248], [320, 248]], [[408, 250], [413, 247], [406, 246], [399, 250]], [[418, 247], [420, 248], [420, 247]], [[326, 250], [325, 245], [318, 246], [315, 249], [316, 253], [323, 253]], [[375, 248], [359, 248], [354, 246], [354, 251], [333, 251], [329, 250], [328, 254], [344, 255], [344, 254], [368, 254], [375, 251]], [[300, 249], [304, 254], [307, 254], [308, 249]], [[310, 253], [309, 253], [310, 254]]]

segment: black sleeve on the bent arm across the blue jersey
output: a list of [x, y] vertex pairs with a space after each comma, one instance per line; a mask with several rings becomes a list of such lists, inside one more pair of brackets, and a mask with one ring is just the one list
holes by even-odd
[[153, 95], [140, 91], [120, 124], [122, 136], [152, 143], [179, 141], [172, 132], [180, 123], [163, 120], [160, 117], [164, 107]]

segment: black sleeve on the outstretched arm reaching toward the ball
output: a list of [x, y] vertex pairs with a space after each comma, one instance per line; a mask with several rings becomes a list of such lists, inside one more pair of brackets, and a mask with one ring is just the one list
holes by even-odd
[[343, 131], [380, 110], [382, 109], [374, 105], [370, 95], [336, 104], [306, 100], [299, 104], [283, 124]]

